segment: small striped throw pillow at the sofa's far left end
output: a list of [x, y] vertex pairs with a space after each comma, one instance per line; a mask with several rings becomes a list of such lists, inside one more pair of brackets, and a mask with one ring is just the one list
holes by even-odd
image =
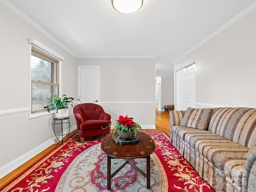
[[210, 116], [212, 114], [212, 109], [205, 108], [205, 109], [195, 109], [195, 108], [188, 108], [180, 122], [181, 126], [206, 130]]

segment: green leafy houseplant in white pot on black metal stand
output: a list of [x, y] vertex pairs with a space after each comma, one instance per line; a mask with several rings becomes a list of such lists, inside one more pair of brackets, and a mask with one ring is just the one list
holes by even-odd
[[[62, 95], [61, 98], [58, 98], [57, 95], [55, 95], [50, 106], [47, 105], [44, 109], [47, 109], [48, 112], [50, 112], [50, 110], [55, 110], [56, 118], [66, 118], [69, 115], [68, 104], [73, 103], [73, 100], [74, 98], [67, 97], [65, 94]], [[72, 104], [71, 107], [73, 107]]]

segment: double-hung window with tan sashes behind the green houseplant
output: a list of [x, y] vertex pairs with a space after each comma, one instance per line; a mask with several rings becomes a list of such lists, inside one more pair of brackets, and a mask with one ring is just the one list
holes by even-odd
[[32, 47], [31, 49], [31, 113], [45, 111], [59, 92], [59, 60]]

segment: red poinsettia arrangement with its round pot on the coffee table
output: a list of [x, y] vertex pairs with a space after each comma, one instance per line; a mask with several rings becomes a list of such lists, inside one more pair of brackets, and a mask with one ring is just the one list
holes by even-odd
[[[141, 126], [139, 123], [133, 122], [133, 118], [127, 117], [128, 115], [119, 116], [119, 119], [116, 120], [115, 124], [110, 124], [110, 126], [113, 126], [117, 131], [120, 138], [123, 138], [125, 140], [131, 140], [136, 136], [137, 130], [141, 129]], [[113, 133], [113, 136], [114, 136]]]

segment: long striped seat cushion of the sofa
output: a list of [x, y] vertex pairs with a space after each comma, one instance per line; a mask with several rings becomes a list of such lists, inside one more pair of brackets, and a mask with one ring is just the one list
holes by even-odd
[[206, 130], [174, 126], [173, 132], [242, 186], [244, 155], [249, 150], [247, 147]]

